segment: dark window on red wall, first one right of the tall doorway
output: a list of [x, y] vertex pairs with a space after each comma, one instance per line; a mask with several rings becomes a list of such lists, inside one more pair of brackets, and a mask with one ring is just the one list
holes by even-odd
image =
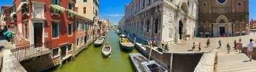
[[59, 24], [56, 22], [52, 22], [51, 24], [51, 37], [57, 38], [59, 36]]

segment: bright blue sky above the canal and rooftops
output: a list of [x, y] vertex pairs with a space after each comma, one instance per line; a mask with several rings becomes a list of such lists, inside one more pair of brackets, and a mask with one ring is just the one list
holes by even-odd
[[[99, 0], [99, 17], [108, 19], [114, 24], [124, 15], [125, 3], [130, 3], [131, 0]], [[11, 5], [12, 0], [1, 0], [0, 6]], [[249, 0], [249, 19], [256, 20], [256, 0]]]

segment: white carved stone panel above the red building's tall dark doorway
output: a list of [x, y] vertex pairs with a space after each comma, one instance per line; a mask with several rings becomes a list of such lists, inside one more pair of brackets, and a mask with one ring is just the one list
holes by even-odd
[[32, 3], [32, 19], [45, 20], [44, 3]]

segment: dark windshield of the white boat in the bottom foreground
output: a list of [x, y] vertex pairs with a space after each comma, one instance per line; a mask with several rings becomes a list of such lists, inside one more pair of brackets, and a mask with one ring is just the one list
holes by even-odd
[[147, 67], [150, 69], [152, 72], [164, 72], [165, 70], [158, 66], [157, 64], [150, 64], [147, 65]]

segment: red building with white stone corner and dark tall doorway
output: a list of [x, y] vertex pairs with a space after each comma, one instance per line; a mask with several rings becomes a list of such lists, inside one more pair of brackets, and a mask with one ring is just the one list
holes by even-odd
[[54, 65], [72, 57], [75, 0], [13, 0], [13, 8], [17, 48], [48, 48]]

